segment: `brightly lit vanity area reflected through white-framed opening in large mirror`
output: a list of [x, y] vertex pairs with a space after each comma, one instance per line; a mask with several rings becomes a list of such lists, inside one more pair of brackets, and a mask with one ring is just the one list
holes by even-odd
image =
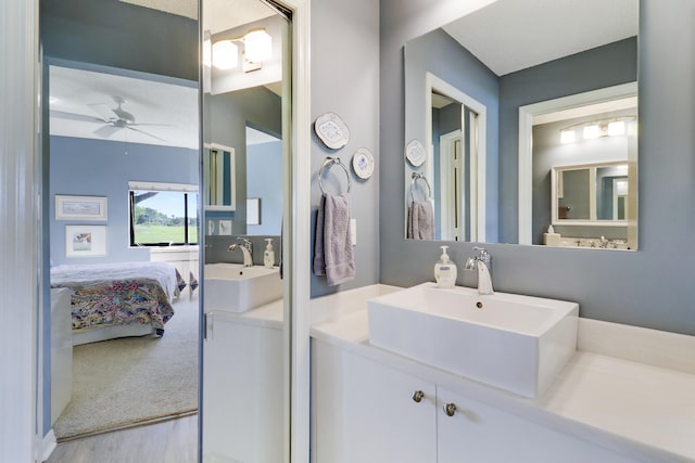
[[636, 248], [636, 114], [629, 97], [534, 118], [533, 244]]

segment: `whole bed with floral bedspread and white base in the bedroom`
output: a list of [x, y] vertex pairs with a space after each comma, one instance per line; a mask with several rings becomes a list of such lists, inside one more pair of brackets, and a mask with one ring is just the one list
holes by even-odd
[[169, 262], [51, 267], [51, 287], [71, 290], [73, 345], [164, 335], [181, 286], [186, 282]]

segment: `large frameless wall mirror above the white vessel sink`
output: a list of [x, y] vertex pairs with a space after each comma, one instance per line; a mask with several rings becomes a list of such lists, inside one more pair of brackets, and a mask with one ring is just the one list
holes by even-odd
[[[404, 145], [419, 141], [426, 152], [422, 164], [404, 162], [406, 237], [543, 244], [552, 223], [551, 168], [536, 183], [534, 117], [632, 97], [636, 127], [639, 1], [561, 0], [540, 8], [529, 0], [497, 0], [405, 43]], [[629, 83], [629, 90], [621, 87]], [[614, 87], [619, 95], [603, 95]], [[591, 92], [597, 92], [591, 101], [522, 111]], [[636, 192], [634, 140], [628, 185]], [[619, 159], [574, 164], [612, 160]], [[420, 178], [428, 180], [431, 197]], [[535, 197], [540, 189], [546, 190], [542, 203]], [[636, 246], [636, 195], [633, 203], [626, 206], [626, 220], [634, 226], [630, 248]], [[413, 214], [414, 206], [431, 214]], [[536, 216], [544, 218], [543, 229]], [[584, 234], [610, 235], [597, 229]]]

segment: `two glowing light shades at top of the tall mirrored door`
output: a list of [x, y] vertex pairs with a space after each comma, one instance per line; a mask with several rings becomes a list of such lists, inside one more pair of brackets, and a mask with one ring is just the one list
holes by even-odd
[[273, 37], [264, 28], [248, 31], [243, 37], [223, 39], [213, 43], [212, 64], [218, 69], [232, 69], [239, 64], [239, 46], [243, 47], [244, 73], [261, 68], [261, 62], [273, 57]]

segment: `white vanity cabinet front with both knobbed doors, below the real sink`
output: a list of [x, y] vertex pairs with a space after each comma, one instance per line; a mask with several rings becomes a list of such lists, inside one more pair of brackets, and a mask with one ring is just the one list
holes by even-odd
[[317, 339], [313, 369], [314, 463], [634, 461]]

